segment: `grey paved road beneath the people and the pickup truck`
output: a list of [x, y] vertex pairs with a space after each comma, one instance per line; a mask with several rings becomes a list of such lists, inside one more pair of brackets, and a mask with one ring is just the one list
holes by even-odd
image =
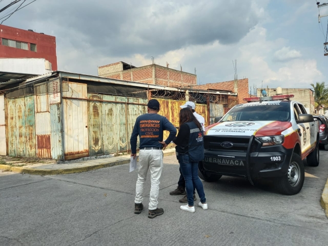
[[128, 165], [58, 176], [0, 173], [0, 245], [328, 245], [319, 204], [328, 151], [320, 154], [295, 196], [222, 177], [203, 182], [209, 210], [194, 214], [179, 209], [181, 196], [169, 195], [179, 172], [167, 156], [159, 201], [165, 213], [154, 219], [148, 197], [146, 210], [133, 213], [137, 174]]

